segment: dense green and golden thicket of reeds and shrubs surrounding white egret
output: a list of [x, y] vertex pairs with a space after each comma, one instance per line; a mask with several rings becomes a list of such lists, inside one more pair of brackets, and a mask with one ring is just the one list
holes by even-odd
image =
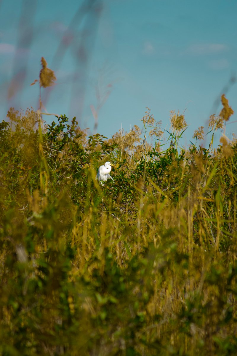
[[[110, 140], [65, 116], [43, 125], [9, 111], [0, 355], [236, 355], [237, 145], [222, 135], [212, 147], [232, 114], [225, 100], [210, 145], [187, 150], [175, 112], [162, 146], [149, 111], [142, 131]], [[106, 161], [117, 168], [101, 187]]]

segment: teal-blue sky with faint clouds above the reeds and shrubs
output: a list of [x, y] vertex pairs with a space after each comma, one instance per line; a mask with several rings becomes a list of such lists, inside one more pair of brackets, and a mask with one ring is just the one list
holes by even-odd
[[228, 85], [237, 75], [236, 0], [2, 0], [0, 13], [2, 119], [10, 106], [38, 108], [30, 84], [43, 56], [57, 77], [44, 90], [46, 110], [76, 116], [90, 132], [128, 131], [147, 106], [168, 128], [169, 112], [179, 110], [187, 146], [198, 126], [207, 132], [222, 93], [237, 120], [237, 83]]

